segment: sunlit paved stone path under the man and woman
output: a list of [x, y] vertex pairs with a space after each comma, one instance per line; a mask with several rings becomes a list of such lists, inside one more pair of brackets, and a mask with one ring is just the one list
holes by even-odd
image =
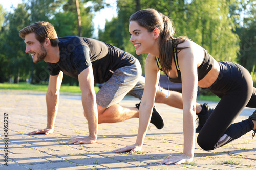
[[[204, 151], [196, 144], [193, 163], [156, 164], [158, 160], [169, 155], [181, 155], [183, 151], [182, 110], [164, 104], [156, 104], [156, 107], [165, 120], [165, 126], [158, 130], [151, 124], [140, 153], [111, 152], [124, 145], [134, 144], [137, 118], [121, 123], [100, 124], [96, 144], [67, 145], [65, 142], [72, 138], [88, 135], [88, 124], [83, 116], [80, 95], [61, 95], [59, 102], [54, 133], [27, 135], [28, 132], [46, 127], [45, 92], [0, 90], [0, 169], [256, 168], [256, 138], [251, 140], [252, 131], [214, 151]], [[138, 102], [135, 98], [125, 98], [121, 105], [133, 107]], [[216, 103], [208, 103], [216, 106]], [[246, 119], [254, 110], [246, 108], [236, 121]], [[4, 117], [8, 117], [7, 145]], [[6, 154], [8, 166], [5, 165]]]

